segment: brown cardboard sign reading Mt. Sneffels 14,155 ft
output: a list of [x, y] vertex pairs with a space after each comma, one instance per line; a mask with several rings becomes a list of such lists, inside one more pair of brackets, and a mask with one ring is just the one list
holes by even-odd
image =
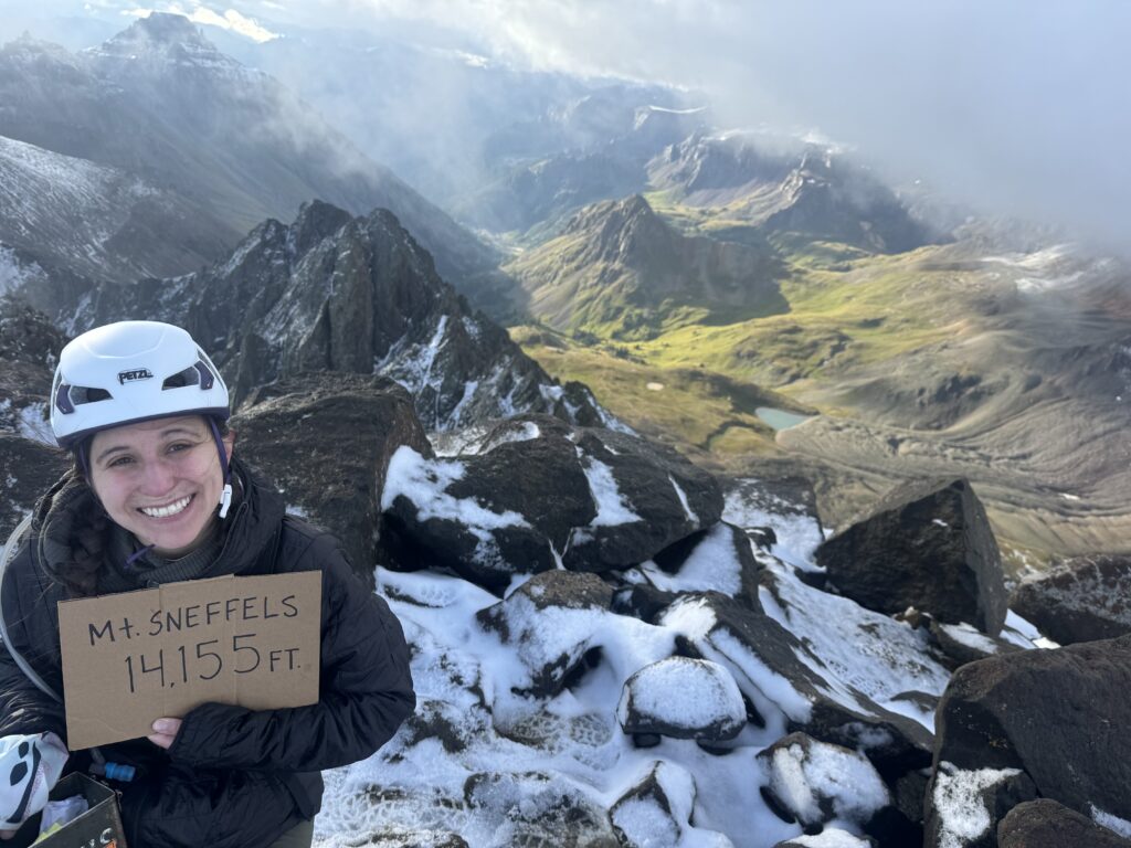
[[71, 751], [208, 701], [318, 701], [322, 574], [219, 577], [59, 603]]

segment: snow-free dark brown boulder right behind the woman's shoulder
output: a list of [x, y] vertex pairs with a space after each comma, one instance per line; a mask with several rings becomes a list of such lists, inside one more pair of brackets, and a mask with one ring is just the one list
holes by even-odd
[[379, 377], [314, 372], [253, 392], [232, 418], [236, 451], [283, 491], [290, 511], [333, 530], [373, 586], [388, 562], [380, 496], [402, 445], [431, 453], [400, 386]]

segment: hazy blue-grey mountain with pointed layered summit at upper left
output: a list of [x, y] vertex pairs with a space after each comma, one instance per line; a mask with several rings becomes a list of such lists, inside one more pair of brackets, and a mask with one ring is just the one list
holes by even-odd
[[392, 209], [444, 274], [493, 263], [474, 236], [309, 105], [180, 16], [150, 15], [79, 54], [11, 42], [0, 50], [0, 135], [169, 185], [236, 232], [291, 218], [319, 198], [357, 214]]

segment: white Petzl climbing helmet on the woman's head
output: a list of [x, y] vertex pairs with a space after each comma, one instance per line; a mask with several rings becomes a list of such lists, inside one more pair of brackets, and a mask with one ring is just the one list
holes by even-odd
[[170, 415], [228, 416], [227, 387], [180, 327], [120, 321], [84, 332], [59, 355], [51, 429], [61, 448], [107, 427]]

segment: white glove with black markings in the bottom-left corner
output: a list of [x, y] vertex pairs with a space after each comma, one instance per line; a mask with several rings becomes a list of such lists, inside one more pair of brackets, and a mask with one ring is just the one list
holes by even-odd
[[69, 755], [53, 733], [0, 738], [0, 832], [43, 810]]

